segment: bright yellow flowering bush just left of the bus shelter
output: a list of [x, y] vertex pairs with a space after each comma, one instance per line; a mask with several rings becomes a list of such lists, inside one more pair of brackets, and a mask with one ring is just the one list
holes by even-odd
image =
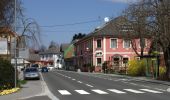
[[128, 75], [141, 76], [145, 74], [144, 60], [131, 60], [128, 62]]

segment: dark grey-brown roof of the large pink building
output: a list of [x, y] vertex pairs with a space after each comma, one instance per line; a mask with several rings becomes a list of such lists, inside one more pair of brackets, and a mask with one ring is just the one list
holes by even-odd
[[[133, 31], [131, 23], [125, 17], [119, 16], [105, 23], [101, 28], [95, 29], [93, 32], [89, 33], [79, 41], [88, 39], [90, 37], [102, 36], [112, 36], [115, 38], [136, 38], [138, 37], [138, 34]], [[150, 37], [150, 35], [147, 34], [144, 36]]]

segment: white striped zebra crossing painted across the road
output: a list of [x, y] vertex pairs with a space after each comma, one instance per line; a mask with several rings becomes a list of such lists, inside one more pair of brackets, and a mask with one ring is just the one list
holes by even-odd
[[[58, 92], [61, 95], [72, 95], [71, 91], [68, 90], [58, 90]], [[73, 91], [72, 91], [73, 92]], [[106, 90], [100, 90], [100, 89], [91, 89], [89, 91], [85, 90], [74, 90], [75, 93], [78, 93], [80, 95], [89, 95], [89, 94], [128, 94], [128, 93], [135, 93], [135, 94], [143, 94], [143, 93], [163, 93], [161, 91], [157, 90], [151, 90], [151, 89], [106, 89]]]

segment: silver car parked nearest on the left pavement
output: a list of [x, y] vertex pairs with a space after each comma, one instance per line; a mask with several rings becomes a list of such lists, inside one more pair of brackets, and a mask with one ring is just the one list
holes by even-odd
[[24, 70], [24, 79], [40, 79], [40, 74], [37, 68], [29, 67]]

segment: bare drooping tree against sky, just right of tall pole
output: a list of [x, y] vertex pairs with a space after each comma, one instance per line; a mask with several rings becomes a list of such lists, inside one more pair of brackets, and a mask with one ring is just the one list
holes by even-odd
[[37, 22], [32, 19], [21, 19], [21, 25], [18, 31], [21, 32], [18, 37], [19, 48], [33, 47], [38, 49], [40, 46], [40, 28]]

